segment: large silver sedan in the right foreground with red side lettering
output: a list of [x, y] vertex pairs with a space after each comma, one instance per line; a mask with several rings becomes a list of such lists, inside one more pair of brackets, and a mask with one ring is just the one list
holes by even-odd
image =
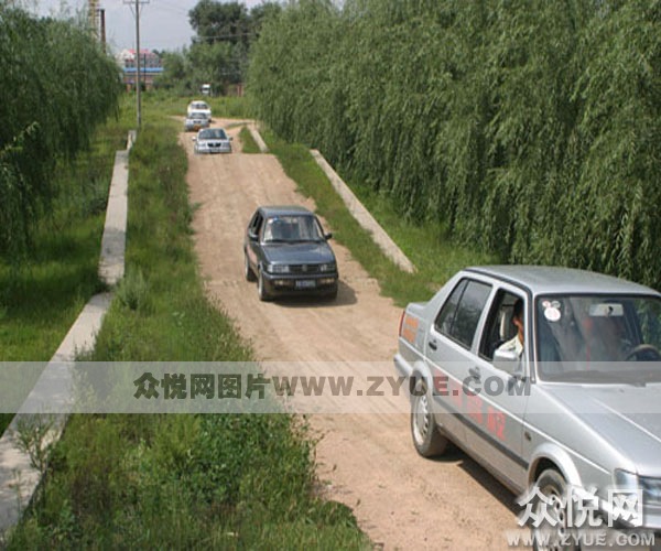
[[652, 289], [494, 266], [409, 304], [394, 365], [416, 451], [458, 445], [521, 496], [537, 548], [574, 549], [585, 529], [661, 530], [660, 348]]

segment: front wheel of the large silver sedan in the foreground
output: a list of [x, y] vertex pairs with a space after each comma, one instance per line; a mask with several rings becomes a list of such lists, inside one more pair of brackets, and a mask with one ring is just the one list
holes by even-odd
[[578, 549], [576, 539], [571, 537], [575, 528], [572, 528], [568, 518], [567, 484], [563, 476], [554, 468], [548, 468], [538, 477], [535, 486], [541, 497], [535, 498], [532, 510], [535, 518], [542, 518], [543, 521], [532, 529], [532, 549], [535, 551]]

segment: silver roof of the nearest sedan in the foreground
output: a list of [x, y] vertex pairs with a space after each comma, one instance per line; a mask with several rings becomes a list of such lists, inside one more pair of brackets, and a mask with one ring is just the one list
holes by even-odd
[[465, 271], [481, 273], [528, 289], [533, 295], [576, 294], [655, 294], [649, 287], [604, 273], [553, 266], [476, 266]]

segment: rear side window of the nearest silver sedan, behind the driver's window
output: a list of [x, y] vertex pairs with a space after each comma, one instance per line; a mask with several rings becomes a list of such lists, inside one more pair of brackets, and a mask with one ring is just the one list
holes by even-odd
[[452, 292], [436, 318], [436, 331], [469, 348], [491, 285], [463, 280]]

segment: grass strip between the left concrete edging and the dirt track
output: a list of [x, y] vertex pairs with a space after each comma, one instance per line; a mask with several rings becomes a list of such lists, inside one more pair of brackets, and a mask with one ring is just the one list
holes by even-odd
[[[178, 125], [151, 109], [128, 273], [91, 359], [249, 359], [201, 285]], [[350, 510], [316, 497], [308, 436], [285, 414], [73, 417], [9, 548], [366, 548]]]

